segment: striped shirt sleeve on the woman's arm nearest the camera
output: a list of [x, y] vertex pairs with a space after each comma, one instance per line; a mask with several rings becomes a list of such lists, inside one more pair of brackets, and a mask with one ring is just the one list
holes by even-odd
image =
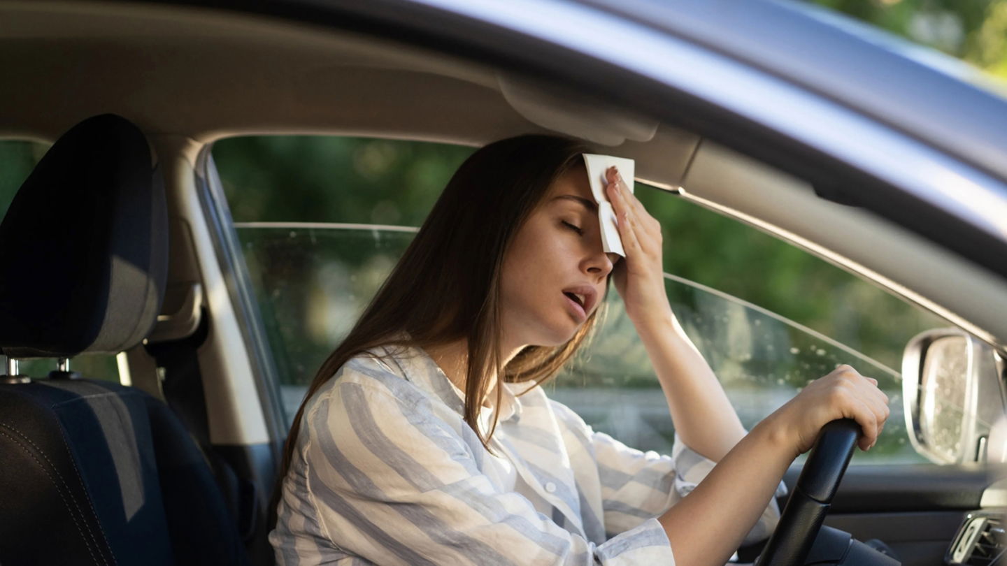
[[378, 564], [674, 564], [653, 519], [595, 544], [500, 491], [431, 403], [340, 380], [305, 414], [306, 501], [327, 545]]

